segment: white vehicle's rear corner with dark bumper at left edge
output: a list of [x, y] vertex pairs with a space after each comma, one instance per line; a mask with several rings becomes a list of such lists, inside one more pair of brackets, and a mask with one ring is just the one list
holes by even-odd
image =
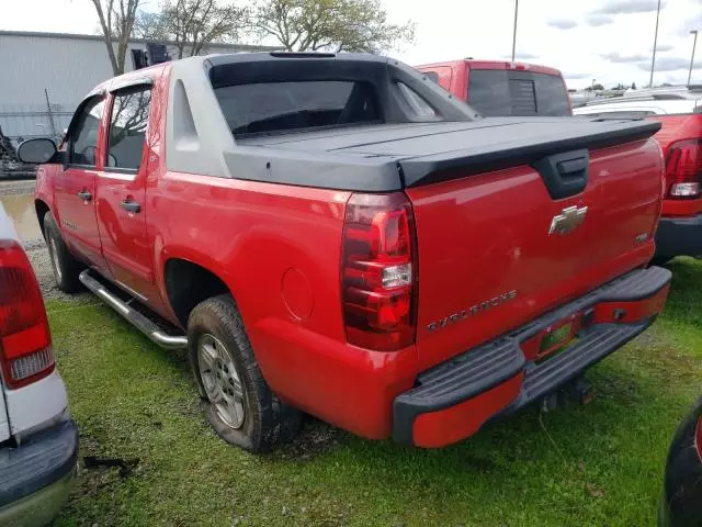
[[78, 429], [56, 370], [44, 301], [0, 205], [0, 525], [43, 526], [63, 505]]

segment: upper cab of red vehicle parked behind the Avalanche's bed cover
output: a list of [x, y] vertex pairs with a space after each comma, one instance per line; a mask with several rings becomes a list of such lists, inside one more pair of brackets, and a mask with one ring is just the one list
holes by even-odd
[[485, 116], [573, 114], [565, 80], [555, 68], [466, 58], [417, 69]]

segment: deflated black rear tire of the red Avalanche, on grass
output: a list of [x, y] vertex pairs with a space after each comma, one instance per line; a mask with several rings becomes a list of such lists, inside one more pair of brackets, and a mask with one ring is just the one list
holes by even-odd
[[[217, 341], [215, 347], [224, 345], [226, 348], [224, 351], [228, 352], [234, 362], [238, 378], [235, 382], [240, 381], [244, 401], [239, 400], [239, 404], [244, 406], [244, 421], [237, 427], [226, 423], [205, 390], [199, 349], [201, 343], [211, 341], [211, 337]], [[191, 366], [203, 397], [205, 417], [219, 437], [252, 452], [268, 451], [295, 437], [299, 429], [301, 413], [283, 404], [263, 379], [241, 316], [230, 295], [213, 296], [195, 306], [188, 318], [188, 345]], [[212, 371], [216, 370], [216, 367], [207, 368], [205, 365], [204, 369], [208, 370], [204, 374], [208, 378], [208, 384], [214, 386], [214, 391], [217, 391], [218, 382], [228, 388], [229, 384], [224, 381], [224, 378], [215, 379], [213, 375]], [[222, 372], [225, 371], [228, 371], [226, 367], [222, 369]], [[226, 375], [226, 373], [223, 374]], [[235, 385], [231, 378], [229, 382]]]

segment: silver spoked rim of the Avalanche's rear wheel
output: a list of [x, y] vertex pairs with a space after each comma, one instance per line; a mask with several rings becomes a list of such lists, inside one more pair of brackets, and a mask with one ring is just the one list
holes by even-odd
[[245, 394], [231, 354], [208, 333], [197, 341], [197, 366], [205, 394], [222, 422], [240, 428], [245, 417]]

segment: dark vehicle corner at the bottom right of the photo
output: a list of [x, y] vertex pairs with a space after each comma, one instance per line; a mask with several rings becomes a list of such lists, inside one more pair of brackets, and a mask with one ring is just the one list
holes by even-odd
[[670, 445], [659, 527], [702, 524], [702, 397], [688, 414]]

